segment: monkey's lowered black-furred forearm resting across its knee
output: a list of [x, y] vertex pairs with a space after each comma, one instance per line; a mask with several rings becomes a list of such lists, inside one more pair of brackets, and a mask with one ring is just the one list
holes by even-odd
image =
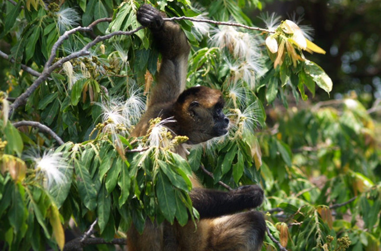
[[263, 190], [258, 185], [241, 186], [229, 192], [195, 188], [190, 197], [200, 218], [214, 218], [259, 206]]

